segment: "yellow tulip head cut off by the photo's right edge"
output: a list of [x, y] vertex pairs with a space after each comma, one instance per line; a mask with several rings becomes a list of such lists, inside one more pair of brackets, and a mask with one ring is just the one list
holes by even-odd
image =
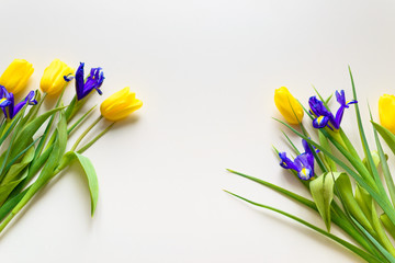
[[384, 94], [379, 100], [380, 123], [395, 134], [395, 96]]

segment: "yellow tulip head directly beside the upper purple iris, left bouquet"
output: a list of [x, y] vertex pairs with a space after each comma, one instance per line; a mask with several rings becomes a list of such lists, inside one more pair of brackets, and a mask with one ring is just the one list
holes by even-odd
[[60, 61], [59, 59], [55, 59], [44, 70], [44, 75], [40, 82], [40, 88], [43, 92], [46, 92], [49, 95], [56, 95], [64, 89], [67, 83], [64, 77], [74, 73], [74, 71], [75, 70], [65, 62]]

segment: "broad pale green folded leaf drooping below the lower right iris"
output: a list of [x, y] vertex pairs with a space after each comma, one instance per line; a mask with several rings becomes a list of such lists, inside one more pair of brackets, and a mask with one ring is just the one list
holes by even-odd
[[324, 173], [309, 183], [313, 199], [315, 201], [328, 232], [330, 231], [330, 205], [334, 199], [334, 179], [336, 180], [340, 173], [334, 172], [332, 174]]

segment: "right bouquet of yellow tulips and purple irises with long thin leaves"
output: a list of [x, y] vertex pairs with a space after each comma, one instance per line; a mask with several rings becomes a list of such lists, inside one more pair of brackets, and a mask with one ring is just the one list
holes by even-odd
[[[276, 119], [289, 130], [301, 138], [292, 141], [284, 134], [293, 155], [274, 148], [280, 165], [291, 172], [295, 179], [311, 193], [305, 198], [267, 181], [238, 174], [253, 182], [279, 192], [297, 204], [305, 206], [321, 217], [325, 229], [309, 224], [300, 217], [274, 207], [259, 204], [230, 193], [249, 204], [282, 214], [352, 251], [366, 262], [395, 262], [395, 185], [384, 152], [383, 142], [395, 155], [395, 96], [383, 95], [379, 101], [381, 124], [370, 114], [374, 144], [369, 144], [362, 126], [351, 70], [353, 99], [346, 100], [345, 91], [336, 91], [335, 100], [338, 108], [331, 112], [334, 96], [324, 99], [317, 95], [308, 100], [308, 108], [304, 107], [286, 88], [275, 91], [274, 102], [286, 122]], [[354, 107], [357, 125], [363, 152], [358, 152], [348, 135], [341, 128], [341, 119], [347, 108]], [[307, 115], [308, 126], [302, 123]], [[297, 145], [302, 142], [303, 150]], [[349, 242], [330, 233], [336, 225], [351, 240]]]

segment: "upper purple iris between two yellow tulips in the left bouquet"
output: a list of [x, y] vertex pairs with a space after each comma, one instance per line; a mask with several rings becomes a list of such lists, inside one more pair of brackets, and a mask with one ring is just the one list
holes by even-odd
[[[93, 89], [98, 91], [101, 95], [102, 92], [99, 89], [104, 81], [104, 73], [101, 68], [92, 68], [87, 80], [83, 78], [83, 62], [80, 62], [80, 66], [76, 72], [76, 91], [77, 99], [82, 100], [87, 96]], [[68, 78], [69, 79], [69, 78]]]

